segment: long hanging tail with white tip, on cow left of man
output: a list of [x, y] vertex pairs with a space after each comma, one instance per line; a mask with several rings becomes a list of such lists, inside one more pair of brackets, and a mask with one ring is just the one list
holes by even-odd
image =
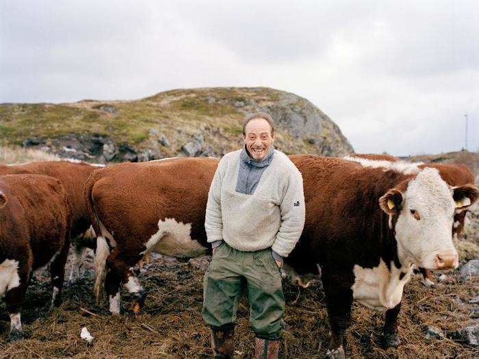
[[90, 216], [93, 231], [96, 233], [96, 252], [94, 258], [96, 278], [94, 284], [94, 294], [96, 297], [96, 302], [98, 303], [103, 300], [103, 289], [105, 287], [105, 277], [107, 275], [107, 258], [109, 256], [109, 245], [106, 238], [107, 233], [105, 233], [106, 230], [101, 230], [102, 228], [105, 228], [105, 226], [103, 226], [98, 215], [96, 214], [92, 196], [93, 187], [96, 181], [99, 181], [101, 178], [102, 170], [103, 169], [92, 172], [85, 184], [86, 208], [88, 210], [88, 215]]

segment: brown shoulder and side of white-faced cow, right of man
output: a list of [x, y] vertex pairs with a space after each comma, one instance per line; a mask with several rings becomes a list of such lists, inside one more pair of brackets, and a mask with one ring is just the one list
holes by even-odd
[[[376, 238], [386, 231], [383, 225], [387, 224], [378, 198], [391, 183], [400, 183], [409, 175], [385, 173], [384, 168], [365, 168], [335, 157], [300, 155], [290, 159], [303, 177], [306, 222], [288, 262], [306, 272], [315, 271], [316, 263], [348, 267], [376, 258]], [[363, 258], [358, 258], [358, 253]]]

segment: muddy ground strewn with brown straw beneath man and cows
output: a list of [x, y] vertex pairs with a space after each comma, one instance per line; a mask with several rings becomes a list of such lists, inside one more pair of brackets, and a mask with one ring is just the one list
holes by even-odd
[[[479, 209], [469, 214], [465, 239], [458, 243], [461, 264], [478, 258]], [[1, 358], [211, 358], [209, 332], [200, 310], [203, 273], [209, 257], [180, 263], [159, 256], [140, 274], [150, 290], [140, 315], [129, 308], [122, 293], [122, 314], [112, 317], [98, 306], [92, 294], [92, 258], [86, 258], [83, 279], [64, 291], [60, 308], [47, 310], [51, 290], [46, 273], [31, 284], [22, 312], [25, 340], [8, 343], [10, 322], [0, 305]], [[437, 273], [439, 276], [439, 273]], [[282, 358], [323, 358], [327, 349], [328, 321], [320, 282], [308, 289], [285, 283], [287, 307]], [[479, 278], [461, 280], [458, 270], [445, 281], [426, 288], [419, 276], [406, 285], [400, 314], [398, 349], [383, 349], [380, 333], [383, 313], [354, 305], [354, 322], [348, 330], [346, 354], [354, 358], [479, 358], [479, 348], [468, 345], [458, 332], [478, 323], [469, 317], [478, 304]], [[426, 340], [424, 329], [442, 330], [442, 339]], [[91, 344], [80, 338], [81, 328], [94, 336]], [[246, 297], [239, 305], [235, 345], [237, 358], [253, 355], [253, 333], [248, 328]]]

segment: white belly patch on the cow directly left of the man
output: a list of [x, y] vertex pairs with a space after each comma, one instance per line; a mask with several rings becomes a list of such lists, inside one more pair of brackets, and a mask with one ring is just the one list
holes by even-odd
[[191, 224], [177, 222], [174, 218], [159, 220], [158, 232], [145, 243], [146, 250], [140, 254], [157, 252], [166, 256], [195, 258], [206, 254], [206, 248], [192, 239]]

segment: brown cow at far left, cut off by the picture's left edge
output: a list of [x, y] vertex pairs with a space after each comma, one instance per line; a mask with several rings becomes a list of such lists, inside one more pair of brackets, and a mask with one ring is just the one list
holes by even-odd
[[60, 181], [37, 174], [0, 176], [0, 296], [10, 315], [10, 340], [22, 337], [21, 307], [34, 269], [49, 265], [60, 303], [70, 245], [71, 209]]

